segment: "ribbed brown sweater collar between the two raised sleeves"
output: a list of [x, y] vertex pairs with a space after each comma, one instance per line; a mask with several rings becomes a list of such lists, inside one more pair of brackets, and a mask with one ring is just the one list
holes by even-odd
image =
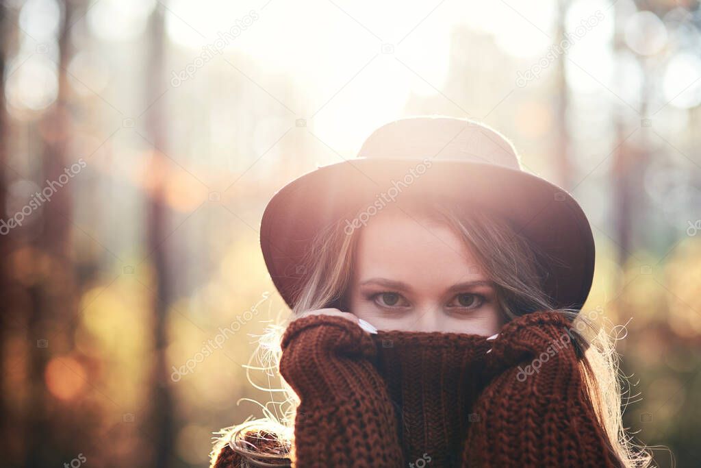
[[490, 341], [479, 335], [379, 330], [377, 367], [388, 386], [407, 462], [454, 466], [475, 421]]

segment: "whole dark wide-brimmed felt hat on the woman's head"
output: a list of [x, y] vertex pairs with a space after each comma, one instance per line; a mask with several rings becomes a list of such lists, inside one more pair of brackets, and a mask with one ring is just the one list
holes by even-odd
[[500, 133], [445, 116], [387, 123], [354, 159], [319, 167], [275, 192], [260, 242], [287, 305], [294, 307], [307, 278], [305, 256], [316, 234], [343, 220], [352, 232], [406, 194], [479, 206], [507, 220], [543, 254], [543, 288], [554, 307], [583, 306], [592, 286], [594, 238], [582, 208], [566, 190], [523, 171]]

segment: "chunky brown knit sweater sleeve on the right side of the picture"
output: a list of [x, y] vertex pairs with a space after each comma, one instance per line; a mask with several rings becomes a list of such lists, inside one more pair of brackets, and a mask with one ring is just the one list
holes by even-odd
[[557, 312], [507, 323], [487, 357], [473, 409], [470, 467], [620, 467], [597, 422], [571, 324]]

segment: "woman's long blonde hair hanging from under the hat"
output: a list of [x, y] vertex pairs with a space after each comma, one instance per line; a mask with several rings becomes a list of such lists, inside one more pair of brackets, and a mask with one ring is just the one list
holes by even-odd
[[[580, 360], [581, 371], [611, 450], [626, 467], [650, 466], [651, 455], [632, 441], [622, 425], [621, 388], [627, 381], [619, 374], [618, 354], [615, 353], [611, 336], [603, 326], [594, 323], [595, 319], [603, 318], [598, 317], [601, 308], [588, 314], [576, 308], [554, 309], [542, 286], [543, 276], [547, 274], [542, 267], [545, 254], [519, 235], [508, 221], [490, 216], [477, 207], [465, 208], [435, 200], [402, 199], [395, 203], [392, 209], [402, 210], [411, 217], [442, 222], [465, 241], [482, 272], [496, 283], [505, 319], [540, 310], [556, 310], [570, 319], [580, 335], [579, 347], [584, 350], [585, 359]], [[326, 307], [347, 310], [345, 295], [353, 276], [355, 246], [360, 232], [362, 227], [347, 234], [343, 230], [343, 222], [339, 221], [338, 225], [318, 233], [304, 261], [308, 275], [297, 291], [292, 317], [300, 312]], [[278, 333], [283, 329], [278, 329]], [[274, 341], [274, 338], [270, 340], [268, 337], [268, 345]], [[279, 354], [273, 357], [277, 360]], [[284, 380], [282, 382], [285, 385]], [[261, 427], [267, 427], [268, 432], [275, 433], [271, 424], [277, 424], [278, 433], [285, 430], [290, 434], [294, 410], [299, 401], [289, 387], [285, 385], [285, 388], [286, 401], [291, 403], [286, 417], [282, 421], [273, 421], [270, 417], [259, 420]], [[290, 441], [284, 442], [290, 444]]]

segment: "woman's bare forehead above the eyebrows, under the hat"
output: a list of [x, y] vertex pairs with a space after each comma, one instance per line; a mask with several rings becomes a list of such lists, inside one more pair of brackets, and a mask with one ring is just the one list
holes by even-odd
[[360, 229], [355, 252], [358, 281], [386, 278], [412, 286], [451, 286], [486, 279], [464, 239], [426, 216], [381, 212]]

